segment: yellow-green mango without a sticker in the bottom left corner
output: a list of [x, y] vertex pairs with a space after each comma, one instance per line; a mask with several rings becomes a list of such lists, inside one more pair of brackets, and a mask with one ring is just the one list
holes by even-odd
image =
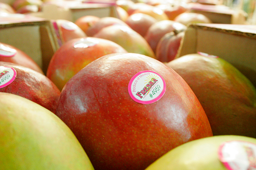
[[29, 99], [0, 92], [0, 170], [94, 170], [71, 130]]

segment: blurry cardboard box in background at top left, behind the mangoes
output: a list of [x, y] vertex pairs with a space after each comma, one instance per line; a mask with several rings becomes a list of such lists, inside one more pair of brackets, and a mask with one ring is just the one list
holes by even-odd
[[96, 3], [93, 1], [52, 1], [44, 3], [41, 12], [32, 13], [33, 16], [42, 17], [49, 20], [69, 20], [75, 22], [78, 18], [85, 15], [97, 17], [117, 17], [115, 3]]

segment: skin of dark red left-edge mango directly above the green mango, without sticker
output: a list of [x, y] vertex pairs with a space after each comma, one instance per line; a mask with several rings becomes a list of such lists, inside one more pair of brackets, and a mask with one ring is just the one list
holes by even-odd
[[11, 62], [0, 62], [0, 66], [14, 68], [17, 72], [14, 81], [0, 88], [0, 92], [22, 96], [55, 113], [61, 91], [50, 79], [38, 71]]

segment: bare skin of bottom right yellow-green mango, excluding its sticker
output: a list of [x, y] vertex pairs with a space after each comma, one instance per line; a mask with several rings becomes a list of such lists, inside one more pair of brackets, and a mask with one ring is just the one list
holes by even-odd
[[187, 142], [170, 150], [145, 170], [227, 170], [218, 159], [222, 142], [240, 140], [256, 144], [247, 136], [220, 135]]

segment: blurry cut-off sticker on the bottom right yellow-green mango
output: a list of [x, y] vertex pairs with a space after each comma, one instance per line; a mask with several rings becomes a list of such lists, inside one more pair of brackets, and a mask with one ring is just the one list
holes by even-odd
[[224, 142], [219, 147], [218, 156], [228, 170], [256, 170], [256, 144]]

